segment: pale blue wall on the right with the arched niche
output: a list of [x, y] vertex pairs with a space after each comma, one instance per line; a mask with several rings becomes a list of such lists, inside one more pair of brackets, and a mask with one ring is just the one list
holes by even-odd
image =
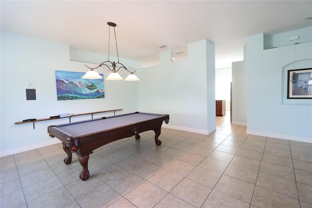
[[[312, 67], [311, 27], [296, 30], [310, 35], [310, 42], [296, 45], [298, 67]], [[309, 32], [310, 31], [310, 32]], [[281, 38], [287, 34], [278, 34]], [[277, 40], [273, 38], [272, 40]], [[284, 39], [288, 40], [288, 39]], [[300, 40], [298, 40], [300, 42]], [[264, 50], [264, 34], [247, 39], [247, 133], [302, 142], [312, 142], [312, 100], [285, 101], [285, 70], [293, 66], [293, 44]], [[280, 43], [278, 43], [280, 44]], [[274, 43], [273, 43], [274, 46]], [[300, 65], [300, 66], [299, 66]], [[287, 99], [286, 99], [287, 100]], [[298, 104], [300, 103], [300, 104]]]

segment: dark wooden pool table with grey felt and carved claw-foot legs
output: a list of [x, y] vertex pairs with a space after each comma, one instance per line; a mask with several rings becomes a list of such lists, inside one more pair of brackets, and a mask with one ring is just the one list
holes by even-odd
[[163, 121], [168, 124], [169, 115], [134, 112], [69, 124], [51, 125], [48, 126], [48, 133], [49, 136], [62, 141], [63, 149], [67, 154], [64, 159], [66, 165], [72, 162], [72, 152], [76, 152], [82, 166], [79, 177], [85, 181], [90, 176], [88, 160], [93, 150], [127, 137], [135, 136], [136, 139], [140, 139], [139, 133], [148, 130], [155, 131], [155, 143], [161, 145], [158, 137]]

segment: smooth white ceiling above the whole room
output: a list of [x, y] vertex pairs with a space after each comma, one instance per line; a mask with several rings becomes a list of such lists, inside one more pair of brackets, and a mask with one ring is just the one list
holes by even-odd
[[103, 61], [107, 22], [115, 22], [119, 57], [137, 61], [137, 68], [158, 64], [162, 50], [172, 49], [174, 61], [186, 59], [187, 44], [203, 39], [215, 43], [216, 68], [229, 67], [243, 60], [248, 36], [312, 25], [305, 20], [311, 0], [1, 0], [0, 9], [1, 31], [66, 43], [103, 54]]

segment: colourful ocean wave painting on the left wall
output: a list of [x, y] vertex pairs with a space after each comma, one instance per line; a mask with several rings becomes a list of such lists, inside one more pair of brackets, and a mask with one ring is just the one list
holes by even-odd
[[[82, 79], [85, 73], [55, 71], [58, 101], [104, 98], [104, 78]], [[103, 74], [100, 74], [103, 77]]]

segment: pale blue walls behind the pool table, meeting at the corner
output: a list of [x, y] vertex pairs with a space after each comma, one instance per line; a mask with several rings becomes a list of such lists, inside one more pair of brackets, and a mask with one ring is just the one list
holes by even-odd
[[[173, 128], [206, 134], [213, 132], [215, 46], [203, 40], [190, 44], [189, 51], [188, 60], [174, 63], [171, 62], [171, 51], [169, 55], [168, 51], [163, 52], [161, 65], [136, 72], [141, 79], [139, 82], [104, 80], [104, 99], [57, 101], [55, 70], [86, 72], [85, 63], [96, 67], [98, 64], [95, 63], [105, 61], [105, 57], [75, 51], [67, 44], [1, 32], [0, 156], [59, 143], [58, 139], [48, 136], [47, 127], [68, 123], [66, 118], [35, 123], [35, 130], [32, 123], [14, 124], [59, 113], [119, 108], [123, 111], [117, 114], [138, 110], [159, 112], [170, 114]], [[136, 62], [121, 61], [130, 69], [136, 68]], [[104, 69], [97, 71], [104, 74], [104, 78], [109, 74]], [[148, 71], [150, 74], [146, 73]], [[121, 75], [125, 77], [127, 73], [121, 72]], [[191, 75], [195, 78], [190, 78]], [[25, 89], [29, 83], [36, 89], [36, 100], [26, 100]], [[138, 86], [142, 89], [139, 92]], [[109, 115], [113, 113], [98, 114], [94, 118]], [[85, 119], [91, 119], [91, 116], [74, 117], [72, 121]]]

